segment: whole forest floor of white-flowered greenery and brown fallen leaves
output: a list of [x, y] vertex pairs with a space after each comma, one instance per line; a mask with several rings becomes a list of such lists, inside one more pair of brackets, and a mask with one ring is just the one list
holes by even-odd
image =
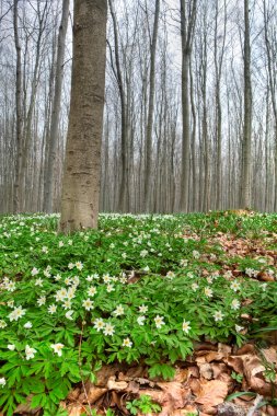
[[277, 415], [276, 213], [57, 220], [0, 218], [0, 415]]

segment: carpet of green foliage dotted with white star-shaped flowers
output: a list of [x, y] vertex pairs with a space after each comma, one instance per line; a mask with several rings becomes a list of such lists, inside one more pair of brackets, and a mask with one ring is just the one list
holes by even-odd
[[97, 231], [65, 236], [56, 215], [2, 217], [0, 409], [31, 397], [65, 414], [102, 365], [170, 380], [196, 343], [264, 343], [277, 328], [276, 230], [276, 215], [102, 215]]

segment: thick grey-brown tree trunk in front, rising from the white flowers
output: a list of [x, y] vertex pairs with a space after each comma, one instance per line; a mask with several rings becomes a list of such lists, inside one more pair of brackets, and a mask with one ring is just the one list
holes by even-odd
[[96, 228], [105, 92], [105, 0], [74, 0], [73, 63], [60, 230]]

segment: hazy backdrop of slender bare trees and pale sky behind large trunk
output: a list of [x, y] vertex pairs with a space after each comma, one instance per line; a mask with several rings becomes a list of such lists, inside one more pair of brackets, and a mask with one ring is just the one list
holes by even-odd
[[[246, 82], [244, 3], [250, 22]], [[69, 0], [0, 1], [0, 212], [16, 210], [16, 192], [21, 211], [60, 209], [70, 104], [70, 8]], [[276, 27], [275, 0], [109, 1], [101, 211], [240, 207], [245, 85], [251, 207], [276, 210]]]

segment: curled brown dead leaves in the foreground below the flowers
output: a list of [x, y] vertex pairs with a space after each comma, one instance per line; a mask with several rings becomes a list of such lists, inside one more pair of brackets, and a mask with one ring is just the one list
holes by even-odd
[[[194, 356], [178, 361], [172, 381], [150, 380], [146, 366], [103, 366], [95, 384], [86, 382], [76, 388], [62, 405], [70, 416], [81, 415], [85, 406], [88, 412], [88, 405], [96, 408], [97, 414], [104, 415], [112, 408], [117, 415], [128, 415], [126, 402], [147, 394], [162, 407], [161, 416], [189, 412], [200, 416], [277, 416], [277, 408], [269, 405], [255, 408], [255, 397], [261, 402], [277, 394], [277, 378], [275, 382], [265, 378], [267, 362], [276, 369], [277, 346], [258, 351], [252, 344], [240, 349], [224, 344], [199, 344]], [[232, 373], [240, 374], [242, 382], [234, 380]], [[256, 394], [239, 395], [228, 402], [227, 397], [236, 392]]]

